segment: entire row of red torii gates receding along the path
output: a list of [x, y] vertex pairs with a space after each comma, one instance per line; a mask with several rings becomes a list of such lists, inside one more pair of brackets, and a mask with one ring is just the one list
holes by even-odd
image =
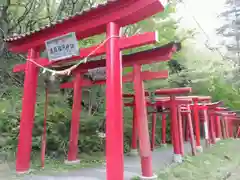
[[[67, 163], [78, 162], [78, 134], [81, 112], [81, 90], [83, 87], [106, 84], [106, 169], [108, 180], [124, 179], [123, 154], [123, 97], [132, 98], [125, 103], [133, 107], [132, 153], [137, 151], [141, 158], [142, 179], [156, 179], [152, 170], [152, 151], [155, 143], [156, 111], [153, 115], [152, 141], [150, 145], [147, 120], [147, 106], [163, 109], [162, 112], [162, 144], [166, 143], [166, 113], [170, 113], [171, 139], [174, 149], [174, 161], [181, 162], [183, 156], [183, 132], [185, 140], [190, 138], [193, 154], [201, 151], [200, 121], [204, 123], [207, 143], [215, 143], [216, 138], [233, 136], [233, 120], [238, 119], [234, 112], [219, 107], [219, 103], [211, 103], [210, 98], [177, 96], [190, 93], [191, 88], [160, 89], [156, 95], [156, 103], [147, 98], [143, 81], [168, 77], [167, 71], [142, 72], [143, 64], [151, 64], [170, 60], [173, 53], [181, 49], [179, 43], [169, 43], [151, 50], [122, 55], [121, 51], [158, 42], [158, 33], [148, 32], [131, 37], [121, 37], [121, 27], [136, 23], [156, 13], [162, 12], [167, 0], [115, 0], [101, 4], [74, 16], [53, 22], [45, 27], [25, 34], [14, 35], [5, 39], [10, 51], [27, 53], [25, 64], [14, 67], [14, 72], [25, 72], [22, 112], [20, 120], [19, 141], [17, 148], [16, 171], [27, 172], [30, 168], [32, 147], [32, 128], [36, 103], [36, 91], [40, 68], [51, 68], [51, 72], [60, 75], [72, 75], [73, 81], [61, 85], [61, 88], [73, 88], [73, 107], [69, 151]], [[101, 18], [99, 18], [101, 17]], [[49, 39], [74, 32], [76, 39], [84, 39], [106, 32], [105, 44], [83, 48], [80, 55], [58, 61], [42, 58], [40, 52]], [[106, 54], [106, 59], [88, 61], [84, 64], [70, 66], [69, 63], [80, 59]], [[89, 81], [83, 74], [91, 69], [106, 67], [106, 80]], [[133, 67], [133, 72], [122, 76], [122, 67]], [[63, 70], [65, 69], [65, 70]], [[48, 69], [49, 70], [49, 69]], [[133, 82], [134, 94], [123, 94], [122, 82]], [[163, 97], [165, 96], [165, 97]], [[168, 110], [168, 111], [166, 111]], [[199, 116], [199, 111], [201, 111]], [[194, 123], [191, 113], [193, 112]], [[219, 117], [224, 120], [220, 121]], [[187, 123], [182, 123], [187, 122]], [[220, 126], [220, 122], [224, 125]], [[194, 128], [192, 127], [194, 125]], [[185, 128], [182, 128], [185, 127]], [[222, 127], [222, 128], [221, 128]], [[194, 134], [195, 139], [194, 140]]]

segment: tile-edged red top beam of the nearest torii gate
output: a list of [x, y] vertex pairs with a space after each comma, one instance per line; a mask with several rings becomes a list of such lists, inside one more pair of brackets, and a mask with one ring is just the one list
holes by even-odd
[[69, 32], [75, 32], [77, 39], [83, 39], [104, 33], [109, 22], [124, 27], [141, 21], [163, 11], [166, 4], [167, 0], [115, 0], [37, 30], [7, 37], [5, 41], [12, 52], [19, 53], [31, 48], [44, 47], [46, 40]]

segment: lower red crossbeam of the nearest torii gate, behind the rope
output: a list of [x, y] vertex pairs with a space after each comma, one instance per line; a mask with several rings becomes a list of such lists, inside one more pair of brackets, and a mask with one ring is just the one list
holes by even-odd
[[[131, 37], [122, 37], [119, 40], [119, 46], [121, 50], [135, 48], [142, 45], [153, 44], [156, 43], [156, 33], [155, 32], [147, 32], [144, 34], [138, 34]], [[98, 48], [100, 47], [100, 48]], [[97, 49], [98, 48], [98, 49]], [[96, 50], [97, 49], [97, 50]], [[40, 65], [44, 67], [49, 67], [51, 65], [61, 65], [68, 62], [79, 61], [79, 59], [86, 58], [90, 53], [95, 51], [90, 57], [100, 56], [106, 53], [105, 46], [100, 46], [100, 44], [96, 46], [91, 46], [88, 48], [82, 48], [79, 51], [79, 56], [73, 56], [71, 58], [53, 61], [50, 62], [47, 58], [39, 58], [36, 60]], [[26, 64], [17, 64], [13, 67], [13, 72], [24, 71]]]

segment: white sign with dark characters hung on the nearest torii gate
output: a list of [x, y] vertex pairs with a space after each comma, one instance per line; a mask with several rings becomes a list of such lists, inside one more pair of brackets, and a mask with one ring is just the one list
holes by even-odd
[[74, 32], [49, 39], [45, 42], [50, 61], [58, 61], [79, 55], [78, 41]]

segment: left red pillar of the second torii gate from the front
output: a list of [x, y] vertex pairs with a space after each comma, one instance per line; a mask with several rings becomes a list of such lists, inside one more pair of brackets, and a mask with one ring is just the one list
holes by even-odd
[[79, 120], [81, 113], [82, 87], [81, 76], [77, 74], [74, 79], [74, 94], [72, 105], [72, 121], [69, 138], [68, 161], [76, 161], [78, 155]]

